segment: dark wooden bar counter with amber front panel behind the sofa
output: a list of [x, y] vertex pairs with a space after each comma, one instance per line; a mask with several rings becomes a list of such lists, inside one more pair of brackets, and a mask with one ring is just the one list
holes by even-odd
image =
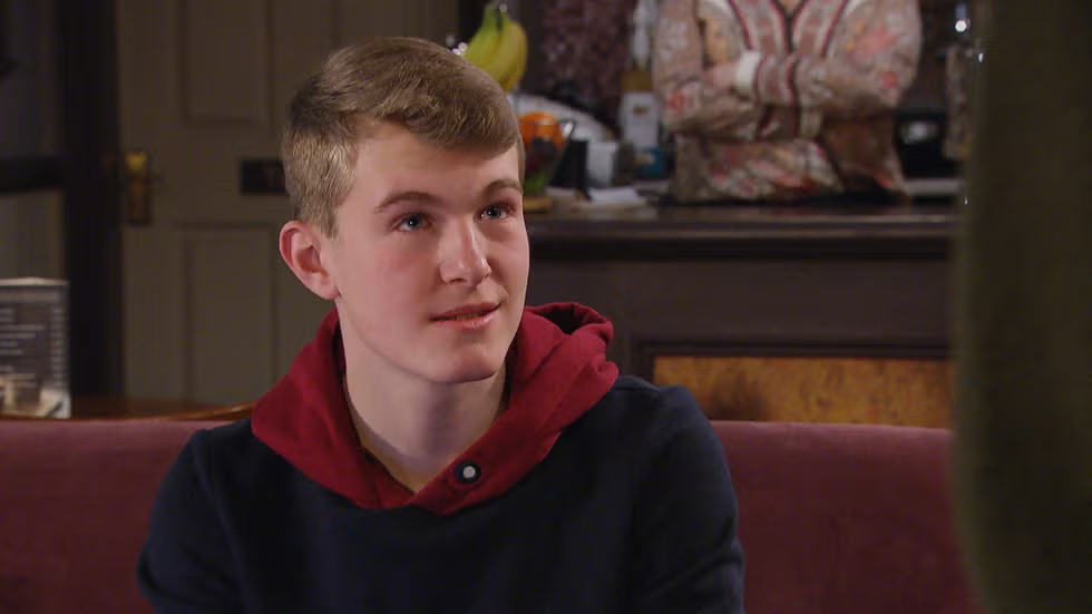
[[623, 372], [716, 418], [948, 423], [956, 208], [661, 206], [529, 214], [528, 304], [615, 325]]

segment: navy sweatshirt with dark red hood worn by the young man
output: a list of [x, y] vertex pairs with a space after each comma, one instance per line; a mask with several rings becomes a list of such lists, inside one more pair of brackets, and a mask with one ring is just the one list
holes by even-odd
[[[251, 420], [183, 449], [153, 510], [142, 591], [160, 614], [742, 612], [720, 442], [685, 389], [615, 378], [604, 323], [586, 308], [528, 310], [508, 409], [413, 494], [322, 384], [340, 377], [328, 318]], [[589, 331], [602, 347], [579, 341]]]

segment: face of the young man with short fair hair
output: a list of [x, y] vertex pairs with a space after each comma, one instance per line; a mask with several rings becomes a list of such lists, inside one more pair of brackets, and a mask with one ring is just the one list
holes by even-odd
[[347, 355], [369, 378], [457, 383], [500, 370], [529, 265], [515, 147], [441, 150], [383, 126], [360, 145], [337, 225], [321, 261]]

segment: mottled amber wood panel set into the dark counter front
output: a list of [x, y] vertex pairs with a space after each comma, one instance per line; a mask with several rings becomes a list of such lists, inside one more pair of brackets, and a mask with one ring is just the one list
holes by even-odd
[[676, 357], [659, 384], [689, 388], [710, 418], [947, 427], [953, 377], [943, 359]]

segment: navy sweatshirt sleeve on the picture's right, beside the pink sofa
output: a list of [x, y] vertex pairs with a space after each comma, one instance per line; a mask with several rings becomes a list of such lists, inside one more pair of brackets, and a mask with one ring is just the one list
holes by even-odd
[[720, 440], [684, 388], [663, 390], [662, 429], [634, 511], [631, 612], [743, 612], [738, 506]]

